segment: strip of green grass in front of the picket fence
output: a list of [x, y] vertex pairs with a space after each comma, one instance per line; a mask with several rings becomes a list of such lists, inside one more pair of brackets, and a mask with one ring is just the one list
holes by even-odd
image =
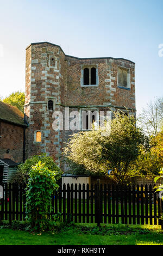
[[163, 245], [160, 226], [62, 225], [53, 232], [30, 233], [0, 227], [0, 245]]

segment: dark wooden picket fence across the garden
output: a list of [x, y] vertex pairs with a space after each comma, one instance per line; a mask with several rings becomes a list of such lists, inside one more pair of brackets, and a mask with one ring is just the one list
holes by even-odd
[[[2, 185], [2, 184], [1, 184]], [[81, 186], [63, 184], [52, 197], [50, 218], [77, 223], [122, 223], [162, 226], [162, 201], [152, 186]], [[22, 186], [3, 184], [0, 221], [26, 220], [26, 192]]]

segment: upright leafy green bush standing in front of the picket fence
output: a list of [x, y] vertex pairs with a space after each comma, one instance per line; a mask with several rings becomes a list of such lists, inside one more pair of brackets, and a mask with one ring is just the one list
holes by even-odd
[[26, 188], [26, 219], [32, 230], [51, 229], [49, 209], [54, 191], [59, 186], [55, 179], [56, 173], [49, 170], [45, 163], [37, 163], [29, 171]]

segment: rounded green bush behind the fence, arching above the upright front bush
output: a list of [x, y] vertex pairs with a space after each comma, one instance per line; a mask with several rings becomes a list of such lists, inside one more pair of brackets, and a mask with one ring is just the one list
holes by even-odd
[[16, 182], [18, 184], [27, 184], [28, 178], [29, 178], [29, 172], [32, 169], [32, 166], [35, 166], [36, 163], [41, 162], [45, 163], [45, 166], [51, 170], [52, 172], [55, 172], [55, 179], [59, 180], [61, 178], [61, 170], [57, 166], [56, 163], [54, 163], [54, 160], [51, 156], [46, 156], [46, 154], [42, 155], [35, 155], [27, 159], [24, 163], [21, 163], [18, 166], [17, 173], [12, 180], [12, 182]]

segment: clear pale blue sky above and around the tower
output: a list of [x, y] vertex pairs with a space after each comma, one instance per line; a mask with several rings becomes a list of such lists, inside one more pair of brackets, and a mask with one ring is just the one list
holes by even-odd
[[163, 96], [162, 14], [162, 0], [0, 0], [0, 96], [24, 91], [26, 47], [48, 41], [80, 58], [135, 62], [140, 114]]

